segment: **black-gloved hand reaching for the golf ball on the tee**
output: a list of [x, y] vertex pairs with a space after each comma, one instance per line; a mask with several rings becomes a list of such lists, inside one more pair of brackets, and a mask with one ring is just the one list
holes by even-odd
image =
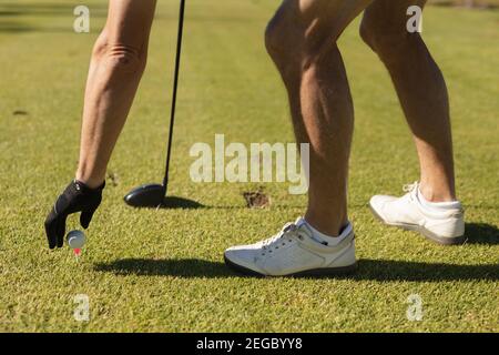
[[65, 220], [70, 214], [81, 212], [80, 224], [85, 230], [89, 227], [94, 212], [101, 204], [104, 187], [105, 182], [98, 189], [90, 189], [78, 180], [65, 187], [45, 220], [50, 248], [62, 247], [64, 244]]

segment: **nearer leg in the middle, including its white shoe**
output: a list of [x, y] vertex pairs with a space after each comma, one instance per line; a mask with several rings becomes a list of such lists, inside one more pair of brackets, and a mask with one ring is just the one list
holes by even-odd
[[266, 45], [289, 95], [296, 139], [310, 144], [309, 202], [304, 219], [276, 236], [225, 251], [228, 266], [289, 276], [355, 271], [347, 217], [354, 108], [336, 41], [370, 0], [285, 0]]

